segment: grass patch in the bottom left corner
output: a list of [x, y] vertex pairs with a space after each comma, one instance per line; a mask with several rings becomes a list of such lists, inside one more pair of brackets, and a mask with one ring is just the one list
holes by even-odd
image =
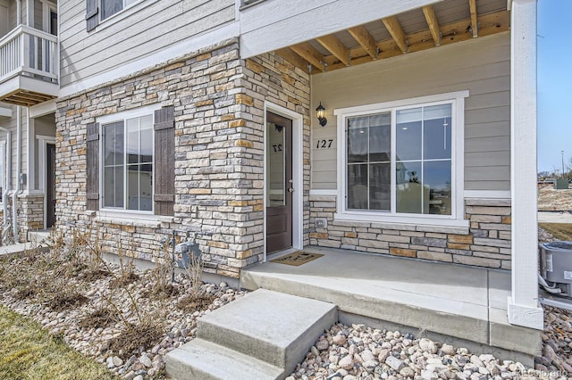
[[0, 306], [0, 379], [117, 379], [29, 318]]

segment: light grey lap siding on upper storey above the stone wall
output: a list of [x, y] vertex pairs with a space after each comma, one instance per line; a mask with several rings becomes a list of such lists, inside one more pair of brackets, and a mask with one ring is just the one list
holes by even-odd
[[[157, 1], [113, 25], [105, 25], [103, 21], [88, 33], [85, 0], [70, 3], [76, 6], [67, 4], [61, 10], [63, 87], [153, 54], [157, 46], [168, 48], [218, 28], [235, 17], [231, 0], [195, 0], [184, 4]], [[174, 57], [165, 57], [165, 61], [170, 58]]]

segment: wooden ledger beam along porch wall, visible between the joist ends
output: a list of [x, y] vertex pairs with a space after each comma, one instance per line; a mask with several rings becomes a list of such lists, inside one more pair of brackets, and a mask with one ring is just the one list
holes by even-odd
[[[481, 37], [506, 32], [509, 30], [510, 12], [501, 11], [484, 14], [478, 18], [478, 21], [481, 25], [481, 29], [479, 31], [479, 36]], [[443, 24], [440, 28], [442, 33], [442, 45], [450, 45], [472, 39], [473, 35], [467, 32], [467, 22], [470, 22], [470, 19]], [[423, 50], [431, 49], [435, 46], [431, 32], [428, 29], [408, 34], [407, 39], [409, 42], [409, 53], [420, 52]], [[401, 52], [394, 48], [395, 43], [392, 39], [380, 41], [377, 43], [377, 46], [380, 49], [379, 59], [391, 58], [401, 55]], [[352, 66], [372, 62], [371, 57], [361, 46], [350, 49], [349, 52], [352, 56]], [[339, 70], [346, 67], [341, 62], [336, 61], [337, 60], [334, 57], [326, 57], [326, 62], [328, 62], [328, 71]]]

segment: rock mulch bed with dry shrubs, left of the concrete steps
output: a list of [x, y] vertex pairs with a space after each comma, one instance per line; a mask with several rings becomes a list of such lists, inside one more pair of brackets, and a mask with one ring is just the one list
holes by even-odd
[[[46, 269], [42, 261], [30, 256], [0, 262], [0, 303], [37, 321], [75, 350], [127, 380], [164, 378], [164, 355], [193, 338], [197, 319], [246, 293], [226, 283], [202, 284], [200, 297], [189, 298], [192, 287], [184, 275], [178, 275], [171, 284], [165, 271], [131, 273], [105, 265], [94, 274], [76, 263], [74, 276], [68, 277], [61, 262]], [[54, 276], [51, 280], [56, 283], [58, 276], [63, 277], [57, 284], [60, 293], [77, 290], [85, 299], [71, 297], [81, 301], [54, 303], [60, 298], [26, 285], [40, 281], [35, 277], [23, 279], [30, 275], [29, 267], [36, 267], [38, 277]]]

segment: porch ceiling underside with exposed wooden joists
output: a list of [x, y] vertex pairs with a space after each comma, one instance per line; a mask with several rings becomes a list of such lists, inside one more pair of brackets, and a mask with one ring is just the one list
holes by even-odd
[[501, 33], [509, 21], [507, 0], [445, 0], [276, 53], [315, 74]]

